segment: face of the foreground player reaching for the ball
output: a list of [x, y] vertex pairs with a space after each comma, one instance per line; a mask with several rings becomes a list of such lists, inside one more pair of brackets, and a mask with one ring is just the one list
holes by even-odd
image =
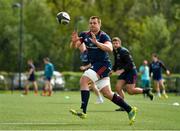
[[89, 20], [89, 29], [93, 33], [98, 33], [100, 31], [101, 24], [98, 22], [98, 19]]

